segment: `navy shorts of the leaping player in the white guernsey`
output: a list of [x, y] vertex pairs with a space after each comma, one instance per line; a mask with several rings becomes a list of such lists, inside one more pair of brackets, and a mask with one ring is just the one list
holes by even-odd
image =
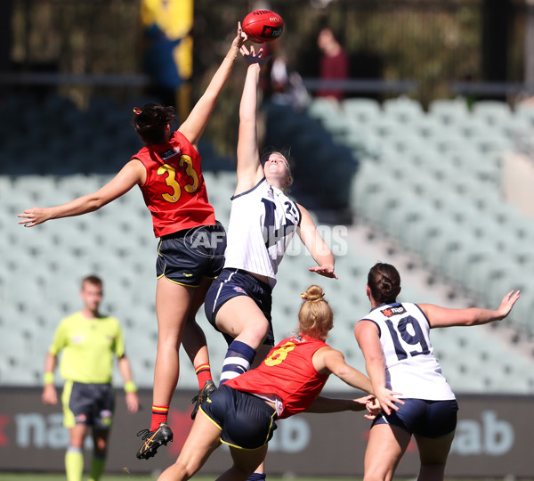
[[[206, 312], [207, 320], [216, 330], [215, 316], [223, 306], [231, 298], [238, 296], [248, 296], [252, 298], [256, 305], [262, 310], [263, 315], [269, 321], [269, 333], [263, 344], [274, 346], [274, 332], [272, 330], [271, 322], [271, 307], [272, 307], [272, 289], [269, 284], [260, 281], [257, 277], [247, 271], [241, 269], [231, 269], [225, 267], [223, 272], [217, 277], [206, 293], [204, 301], [204, 310]], [[219, 332], [221, 332], [219, 330]], [[226, 342], [230, 346], [233, 338], [223, 332]]]

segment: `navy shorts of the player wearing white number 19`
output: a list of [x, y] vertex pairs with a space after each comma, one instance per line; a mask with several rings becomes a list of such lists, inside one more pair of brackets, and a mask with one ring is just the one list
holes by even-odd
[[373, 421], [375, 424], [392, 424], [425, 437], [445, 436], [456, 429], [458, 404], [450, 401], [428, 401], [425, 399], [402, 399], [405, 404], [397, 404], [399, 411], [388, 416], [382, 412]]

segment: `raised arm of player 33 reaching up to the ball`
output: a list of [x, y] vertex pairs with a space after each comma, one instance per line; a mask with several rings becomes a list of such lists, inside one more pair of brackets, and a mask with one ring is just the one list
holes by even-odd
[[224, 84], [230, 78], [231, 70], [239, 53], [239, 48], [246, 39], [247, 36], [242, 32], [241, 24], [238, 23], [238, 34], [233, 39], [230, 50], [223, 59], [223, 63], [221, 63], [221, 66], [215, 72], [214, 77], [206, 88], [206, 92], [198, 99], [193, 110], [190, 111], [188, 118], [178, 128], [190, 143], [193, 144], [195, 149], [197, 148], [200, 136], [206, 128], [207, 121], [214, 111], [219, 94], [221, 94]]

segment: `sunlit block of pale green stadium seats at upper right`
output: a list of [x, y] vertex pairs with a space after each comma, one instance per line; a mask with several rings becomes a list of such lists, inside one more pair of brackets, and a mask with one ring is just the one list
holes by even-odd
[[[387, 110], [386, 104], [400, 103], [401, 100], [384, 102], [384, 111]], [[347, 103], [347, 111], [351, 109], [350, 104]], [[515, 116], [506, 104], [495, 102], [478, 102], [473, 112], [460, 100], [431, 102], [428, 114], [417, 107], [411, 111], [414, 118], [405, 119], [402, 126], [397, 119], [397, 126], [389, 127], [389, 134], [383, 137], [382, 155], [376, 159], [362, 159], [363, 165], [352, 183], [352, 189], [356, 191], [352, 194], [352, 205], [361, 215], [401, 240], [407, 249], [415, 249], [429, 265], [449, 275], [452, 281], [475, 289], [476, 282], [467, 281], [458, 271], [461, 265], [476, 262], [480, 257], [477, 250], [490, 250], [489, 256], [494, 259], [493, 265], [490, 261], [475, 264], [481, 269], [477, 279], [485, 276], [493, 279], [495, 274], [491, 272], [495, 270], [495, 257], [504, 256], [502, 264], [512, 266], [515, 263], [515, 259], [511, 258], [513, 252], [521, 249], [515, 241], [517, 236], [514, 232], [508, 234], [506, 225], [508, 219], [517, 219], [518, 213], [500, 199], [498, 190], [500, 156], [513, 148], [506, 130], [499, 126], [514, 120], [514, 128], [526, 131], [530, 124], [526, 120], [522, 123], [521, 116]], [[417, 115], [419, 119], [415, 118]], [[385, 121], [391, 124], [392, 116], [384, 114], [381, 119], [377, 114], [369, 124]], [[433, 126], [431, 135], [424, 133], [422, 128], [427, 122]], [[440, 125], [441, 129], [436, 127]], [[437, 152], [434, 150], [435, 153], [425, 157], [425, 145], [430, 145], [429, 141]], [[421, 143], [421, 147], [414, 147], [417, 142]], [[412, 146], [408, 147], [409, 144]], [[421, 154], [413, 156], [410, 153], [412, 149]], [[413, 162], [417, 162], [417, 167], [414, 168]], [[402, 195], [398, 190], [388, 195], [387, 189], [376, 193], [380, 192], [378, 184], [389, 186], [395, 181], [402, 183]], [[418, 195], [412, 201], [415, 211], [411, 215], [405, 210], [410, 205], [407, 192]], [[373, 198], [374, 193], [376, 198]], [[425, 206], [431, 206], [431, 210], [423, 216], [421, 209]], [[395, 229], [392, 219], [407, 228]], [[420, 228], [418, 219], [426, 219]], [[438, 225], [432, 226], [439, 224], [435, 219], [440, 219], [449, 227], [440, 229]], [[522, 225], [526, 232], [526, 219], [514, 220], [514, 223]], [[425, 224], [429, 225], [428, 228]], [[455, 224], [457, 228], [453, 229]], [[468, 232], [475, 235], [472, 242], [462, 240]], [[403, 237], [402, 233], [406, 235]], [[532, 240], [531, 233], [527, 235]], [[470, 254], [469, 244], [473, 246], [473, 255]], [[510, 247], [512, 245], [514, 249]], [[454, 256], [449, 257], [448, 252]], [[459, 265], [451, 262], [455, 257]], [[476, 272], [474, 269], [473, 275]], [[476, 290], [484, 292], [481, 285], [476, 286]], [[488, 298], [488, 302], [491, 301]]]

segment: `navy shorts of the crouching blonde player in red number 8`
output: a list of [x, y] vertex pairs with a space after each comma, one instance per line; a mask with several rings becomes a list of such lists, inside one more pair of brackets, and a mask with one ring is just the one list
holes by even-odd
[[269, 443], [278, 419], [263, 399], [221, 386], [200, 406], [200, 411], [221, 428], [221, 441], [240, 449], [258, 449]]

